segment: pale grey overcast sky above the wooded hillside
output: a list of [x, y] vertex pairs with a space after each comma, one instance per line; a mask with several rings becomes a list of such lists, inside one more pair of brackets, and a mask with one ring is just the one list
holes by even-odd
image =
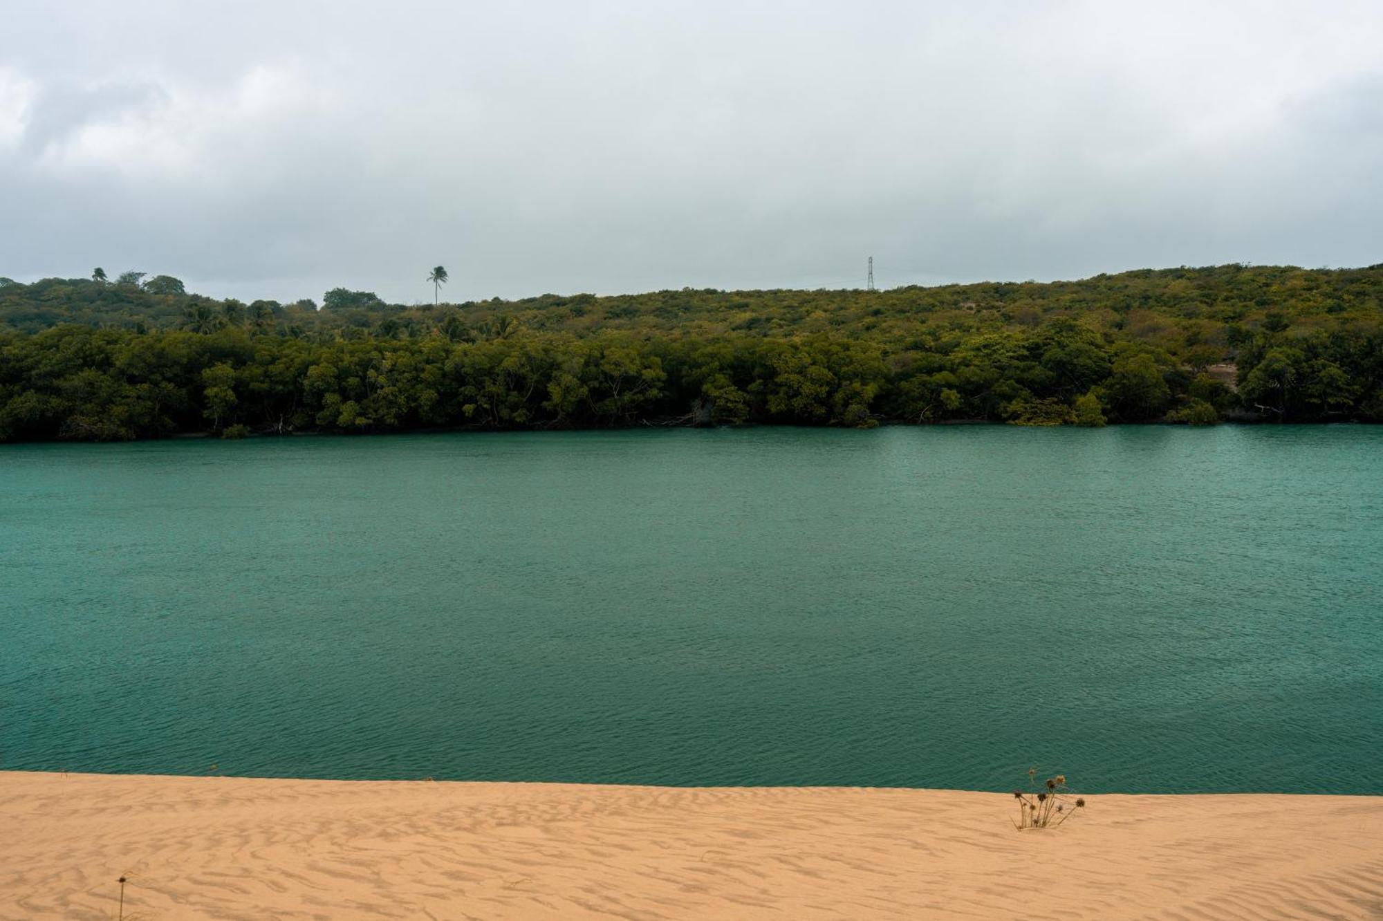
[[1383, 261], [1383, 3], [6, 0], [0, 275], [431, 300]]

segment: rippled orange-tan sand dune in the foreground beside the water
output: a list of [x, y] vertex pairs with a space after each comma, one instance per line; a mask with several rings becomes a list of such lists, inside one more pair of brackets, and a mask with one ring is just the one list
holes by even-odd
[[0, 773], [0, 917], [1369, 918], [1383, 797]]

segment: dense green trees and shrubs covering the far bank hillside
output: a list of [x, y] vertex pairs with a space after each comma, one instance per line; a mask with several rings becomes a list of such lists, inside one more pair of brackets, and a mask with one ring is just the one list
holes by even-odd
[[1383, 264], [412, 307], [0, 278], [0, 441], [1224, 420], [1383, 422]]

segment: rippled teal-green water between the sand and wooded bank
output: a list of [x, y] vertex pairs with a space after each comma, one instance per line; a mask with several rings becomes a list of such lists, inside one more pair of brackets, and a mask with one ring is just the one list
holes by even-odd
[[1383, 792], [1383, 427], [0, 447], [0, 768]]

